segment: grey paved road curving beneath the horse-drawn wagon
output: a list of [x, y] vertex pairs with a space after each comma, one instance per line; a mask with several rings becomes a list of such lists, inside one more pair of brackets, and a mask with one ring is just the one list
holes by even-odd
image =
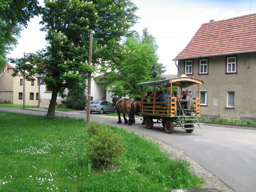
[[[45, 115], [46, 112], [0, 107], [0, 111]], [[57, 112], [56, 116], [86, 118], [83, 112]], [[186, 133], [179, 127], [166, 134], [162, 125], [148, 130], [137, 120], [132, 126], [117, 124], [117, 117], [92, 114], [90, 120], [102, 121], [160, 140], [192, 158], [235, 192], [256, 192], [256, 130], [202, 124], [202, 129]]]

